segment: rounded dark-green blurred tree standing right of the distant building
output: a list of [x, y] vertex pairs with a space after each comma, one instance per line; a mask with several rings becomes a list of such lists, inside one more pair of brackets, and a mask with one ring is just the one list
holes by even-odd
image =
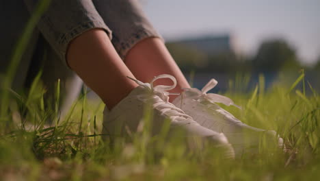
[[283, 39], [265, 40], [252, 60], [256, 71], [276, 72], [283, 69], [299, 69], [295, 49]]

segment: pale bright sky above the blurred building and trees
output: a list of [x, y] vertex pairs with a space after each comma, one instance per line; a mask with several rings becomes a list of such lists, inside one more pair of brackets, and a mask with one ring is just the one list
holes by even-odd
[[166, 40], [230, 32], [248, 54], [281, 37], [306, 64], [320, 56], [320, 0], [141, 0]]

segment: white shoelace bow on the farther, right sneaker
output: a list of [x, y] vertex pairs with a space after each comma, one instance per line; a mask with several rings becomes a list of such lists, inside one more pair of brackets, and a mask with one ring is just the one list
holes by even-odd
[[207, 93], [209, 90], [215, 88], [217, 85], [217, 80], [211, 79], [201, 90], [198, 88], [184, 88], [185, 92], [184, 94], [189, 97], [190, 99], [196, 99], [201, 100], [205, 99], [207, 101], [210, 101], [211, 103], [222, 103], [226, 106], [236, 106], [237, 108], [241, 109], [240, 106], [237, 106], [232, 99], [225, 97], [223, 95], [218, 95], [214, 93]]

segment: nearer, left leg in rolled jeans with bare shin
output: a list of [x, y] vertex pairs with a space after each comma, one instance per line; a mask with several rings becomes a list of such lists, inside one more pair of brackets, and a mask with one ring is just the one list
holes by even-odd
[[[37, 3], [25, 0], [30, 12], [34, 12]], [[38, 29], [59, 59], [68, 63], [109, 108], [137, 86], [126, 78], [133, 75], [111, 45], [111, 30], [92, 1], [52, 1]]]

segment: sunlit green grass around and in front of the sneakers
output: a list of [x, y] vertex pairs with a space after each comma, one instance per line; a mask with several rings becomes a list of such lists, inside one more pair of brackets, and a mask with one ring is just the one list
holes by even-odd
[[[263, 87], [263, 77], [260, 80]], [[195, 151], [175, 141], [165, 144], [164, 136], [152, 139], [148, 130], [133, 134], [132, 143], [119, 141], [111, 150], [100, 135], [104, 107], [100, 101], [81, 95], [61, 119], [59, 84], [55, 106], [46, 108], [44, 88], [36, 78], [25, 97], [10, 92], [8, 117], [1, 129], [0, 176], [16, 180], [315, 179], [320, 176], [320, 101], [316, 92], [307, 96], [295, 87], [303, 80], [302, 73], [291, 87], [276, 84], [265, 92], [257, 85], [251, 93], [226, 93], [243, 108], [227, 110], [244, 123], [276, 130], [287, 150], [270, 153], [268, 145], [262, 145], [258, 154], [222, 160], [212, 147]], [[53, 125], [46, 127], [47, 121]]]

